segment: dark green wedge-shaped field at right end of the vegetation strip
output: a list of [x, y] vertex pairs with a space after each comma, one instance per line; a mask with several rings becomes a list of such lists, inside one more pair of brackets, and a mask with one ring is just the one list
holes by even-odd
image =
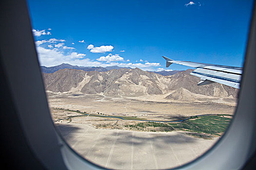
[[182, 122], [169, 123], [176, 130], [218, 135], [225, 132], [231, 119], [221, 116], [204, 116]]

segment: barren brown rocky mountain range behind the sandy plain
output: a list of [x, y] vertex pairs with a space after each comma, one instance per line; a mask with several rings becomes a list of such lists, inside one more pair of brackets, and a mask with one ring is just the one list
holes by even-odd
[[172, 76], [162, 76], [139, 68], [119, 68], [103, 72], [60, 69], [54, 73], [43, 73], [43, 77], [46, 90], [52, 92], [103, 93], [112, 96], [169, 94], [166, 99], [183, 101], [196, 98], [194, 94], [236, 98], [238, 90], [233, 87], [217, 83], [197, 86], [199, 78], [190, 75], [191, 71], [188, 69]]

